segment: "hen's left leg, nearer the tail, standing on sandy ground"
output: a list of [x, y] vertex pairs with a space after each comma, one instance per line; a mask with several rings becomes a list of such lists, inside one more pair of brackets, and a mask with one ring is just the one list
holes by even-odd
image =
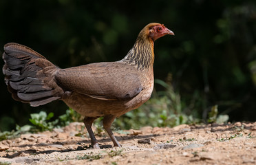
[[98, 146], [98, 141], [96, 140], [94, 132], [92, 131], [92, 122], [94, 122], [94, 120], [96, 120], [96, 118], [85, 117], [83, 123], [85, 123], [85, 127], [89, 133], [89, 137], [91, 138], [92, 146], [94, 147], [94, 149], [100, 149], [100, 146]]

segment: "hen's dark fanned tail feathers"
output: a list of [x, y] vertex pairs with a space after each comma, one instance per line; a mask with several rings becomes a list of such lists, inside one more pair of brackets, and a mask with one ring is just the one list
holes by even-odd
[[61, 98], [56, 84], [58, 67], [41, 54], [17, 43], [8, 43], [3, 52], [3, 74], [12, 98], [36, 107]]

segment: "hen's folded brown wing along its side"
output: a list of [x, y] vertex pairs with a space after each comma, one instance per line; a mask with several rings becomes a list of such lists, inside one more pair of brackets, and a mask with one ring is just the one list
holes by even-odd
[[122, 62], [61, 69], [55, 78], [65, 90], [101, 100], [132, 98], [142, 91], [138, 71]]

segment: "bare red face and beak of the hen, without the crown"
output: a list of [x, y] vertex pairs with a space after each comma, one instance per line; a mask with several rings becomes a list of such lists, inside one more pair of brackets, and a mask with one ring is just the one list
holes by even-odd
[[165, 28], [164, 25], [155, 25], [149, 28], [149, 36], [153, 41], [156, 41], [166, 34], [174, 35], [174, 33], [171, 30]]

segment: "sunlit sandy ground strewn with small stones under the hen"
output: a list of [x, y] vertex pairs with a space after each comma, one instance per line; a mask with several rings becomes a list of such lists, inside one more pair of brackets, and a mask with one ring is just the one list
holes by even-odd
[[256, 122], [146, 126], [115, 135], [122, 147], [112, 148], [103, 131], [96, 150], [87, 148], [83, 123], [24, 134], [0, 142], [0, 164], [256, 164]]

